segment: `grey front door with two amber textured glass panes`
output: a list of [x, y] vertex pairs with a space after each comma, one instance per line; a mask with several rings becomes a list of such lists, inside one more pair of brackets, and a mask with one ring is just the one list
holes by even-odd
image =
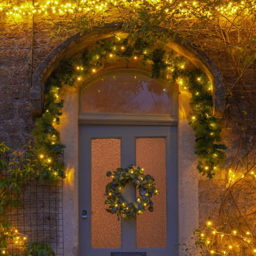
[[[178, 243], [177, 126], [79, 126], [79, 256], [172, 256]], [[117, 220], [106, 211], [107, 171], [133, 164], [154, 176], [154, 211]], [[134, 202], [132, 184], [123, 197]], [[86, 210], [86, 214], [85, 211]], [[87, 215], [87, 217], [85, 217]]]

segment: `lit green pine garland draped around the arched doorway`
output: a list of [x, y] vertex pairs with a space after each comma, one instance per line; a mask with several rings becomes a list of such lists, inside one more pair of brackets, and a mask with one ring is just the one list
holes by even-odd
[[221, 126], [218, 117], [213, 116], [212, 85], [205, 73], [198, 69], [189, 70], [187, 60], [174, 51], [166, 51], [149, 45], [143, 38], [123, 39], [114, 37], [111, 41], [98, 42], [92, 51], [85, 50], [82, 58], [68, 59], [56, 70], [45, 88], [43, 114], [36, 120], [33, 134], [37, 140], [36, 154], [42, 165], [43, 179], [65, 178], [65, 166], [58, 161], [57, 154], [65, 148], [60, 142], [58, 130], [62, 115], [63, 100], [59, 90], [63, 85], [75, 87], [84, 80], [97, 75], [106, 63], [122, 58], [127, 62], [139, 61], [151, 67], [150, 77], [163, 78], [170, 83], [179, 83], [192, 94], [191, 120], [195, 130], [195, 154], [200, 158], [197, 169], [212, 178], [225, 158], [225, 145], [220, 144]]

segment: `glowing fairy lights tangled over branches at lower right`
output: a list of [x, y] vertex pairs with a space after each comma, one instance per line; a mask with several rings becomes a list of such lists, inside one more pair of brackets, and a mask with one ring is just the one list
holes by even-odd
[[[229, 193], [234, 200], [231, 189], [236, 190], [237, 187], [241, 188], [241, 184], [255, 182], [256, 176], [253, 170], [253, 167], [246, 172], [228, 170], [226, 193], [218, 207], [221, 209], [223, 218], [220, 215], [214, 217], [215, 219], [209, 218], [205, 225], [195, 230], [194, 244], [184, 245], [181, 249], [186, 255], [189, 255], [192, 250], [193, 255], [256, 255], [254, 205], [251, 205], [250, 209], [244, 209], [243, 212], [239, 209], [233, 212], [230, 200], [225, 203], [225, 197]], [[225, 208], [223, 203], [226, 204]]]

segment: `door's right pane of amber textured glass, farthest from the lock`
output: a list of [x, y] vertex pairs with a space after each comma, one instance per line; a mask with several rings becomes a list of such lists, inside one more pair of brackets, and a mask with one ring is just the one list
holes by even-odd
[[136, 165], [154, 176], [160, 193], [154, 196], [154, 211], [137, 217], [137, 248], [166, 248], [165, 138], [137, 138]]

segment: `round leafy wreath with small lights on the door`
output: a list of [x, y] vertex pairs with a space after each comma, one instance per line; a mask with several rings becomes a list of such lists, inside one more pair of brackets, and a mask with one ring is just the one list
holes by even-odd
[[[145, 211], [145, 207], [148, 207], [149, 211], [153, 211], [153, 195], [159, 195], [158, 189], [155, 188], [153, 176], [143, 173], [144, 169], [133, 165], [127, 166], [127, 168], [117, 168], [116, 171], [107, 172], [107, 177], [112, 177], [113, 181], [109, 182], [106, 186], [107, 200], [105, 204], [109, 204], [107, 212], [117, 214], [118, 221], [120, 216], [123, 218], [130, 218], [142, 214]], [[139, 197], [136, 198], [136, 202], [125, 202], [122, 197], [122, 189], [128, 182], [132, 182], [134, 187], [138, 186]]]

